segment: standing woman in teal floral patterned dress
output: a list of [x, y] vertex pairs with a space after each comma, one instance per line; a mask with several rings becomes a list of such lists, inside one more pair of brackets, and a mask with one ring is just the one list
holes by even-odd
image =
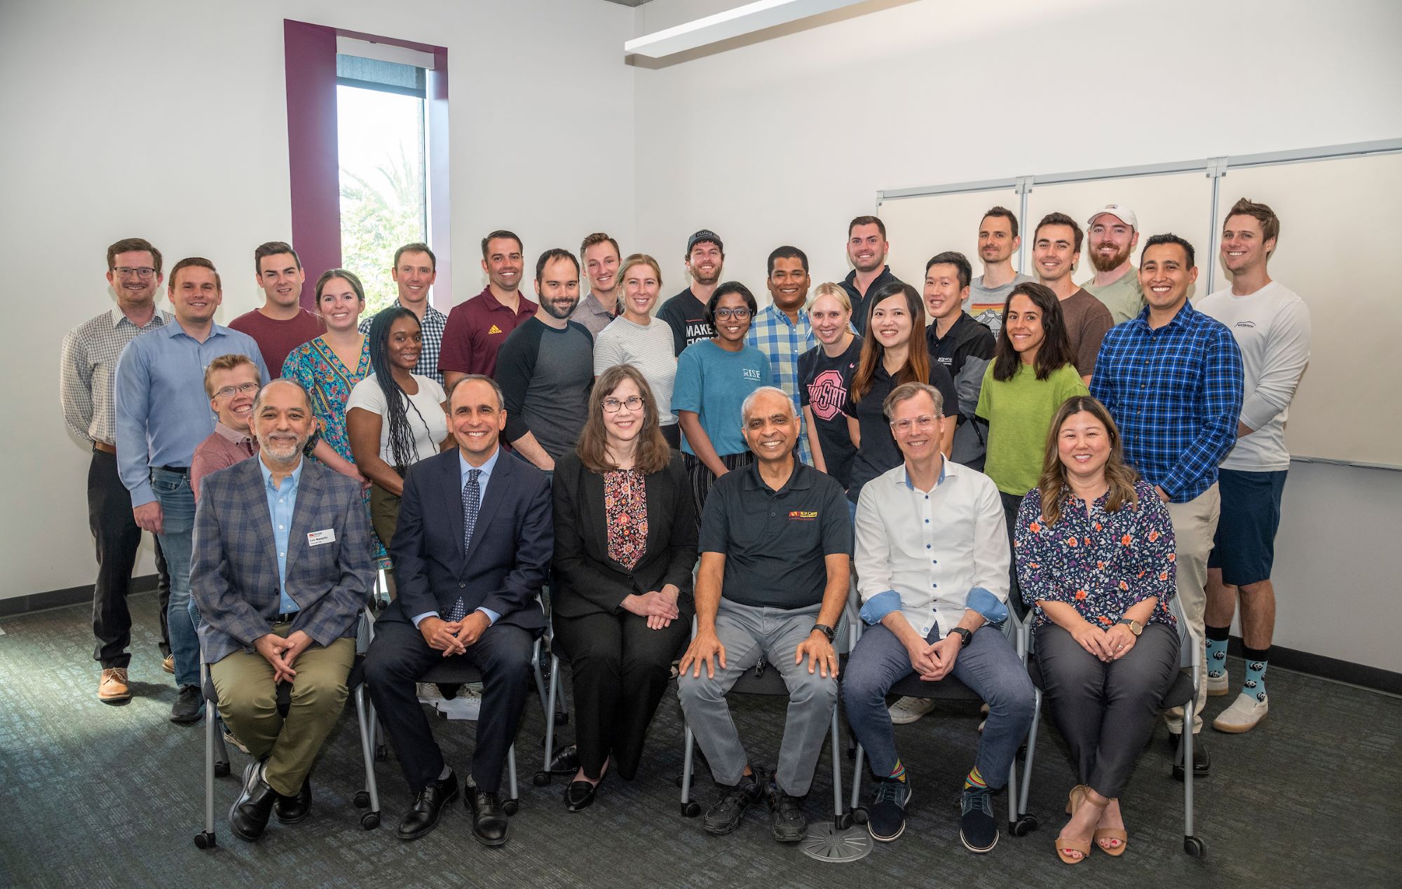
[[[346, 435], [346, 400], [356, 383], [370, 374], [366, 337], [356, 330], [365, 310], [365, 287], [353, 272], [331, 269], [317, 280], [317, 311], [327, 332], [287, 355], [282, 376], [301, 383], [311, 395], [311, 411], [321, 421], [321, 440], [311, 456], [329, 468], [365, 482], [350, 456]], [[365, 492], [369, 512], [370, 494]], [[388, 568], [384, 544], [370, 531], [376, 568]]]

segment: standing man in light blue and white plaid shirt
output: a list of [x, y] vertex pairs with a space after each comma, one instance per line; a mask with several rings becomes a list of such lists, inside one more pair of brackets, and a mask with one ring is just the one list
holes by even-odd
[[[765, 286], [773, 304], [754, 315], [746, 345], [764, 352], [774, 370], [774, 384], [794, 400], [794, 412], [803, 422], [803, 408], [799, 405], [798, 359], [817, 345], [813, 327], [808, 321], [808, 254], [798, 247], [777, 247], [770, 254], [770, 275]], [[799, 428], [798, 459], [813, 466], [813, 450], [808, 443], [808, 430]]]

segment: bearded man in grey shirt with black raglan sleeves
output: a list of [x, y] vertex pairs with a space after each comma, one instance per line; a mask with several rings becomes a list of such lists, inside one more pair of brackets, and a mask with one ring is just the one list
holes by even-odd
[[540, 308], [496, 353], [496, 383], [506, 405], [506, 440], [547, 473], [575, 447], [589, 418], [594, 339], [569, 320], [579, 304], [579, 261], [547, 250], [536, 262]]

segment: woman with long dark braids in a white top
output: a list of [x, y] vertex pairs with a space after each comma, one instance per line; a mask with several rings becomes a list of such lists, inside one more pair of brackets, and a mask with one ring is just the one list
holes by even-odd
[[369, 339], [373, 373], [350, 390], [346, 426], [356, 468], [373, 482], [370, 520], [388, 544], [400, 519], [405, 470], [453, 437], [443, 387], [412, 373], [423, 348], [418, 315], [402, 306], [386, 308], [370, 323]]

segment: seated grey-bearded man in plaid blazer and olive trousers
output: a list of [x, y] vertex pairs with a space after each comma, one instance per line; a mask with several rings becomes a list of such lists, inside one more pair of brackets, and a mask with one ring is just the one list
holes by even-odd
[[[219, 712], [254, 756], [229, 812], [243, 840], [276, 810], [311, 809], [307, 774], [341, 715], [356, 620], [372, 585], [360, 485], [303, 460], [313, 429], [306, 390], [273, 380], [258, 393], [259, 454], [207, 475], [195, 510], [191, 595]], [[278, 684], [287, 683], [287, 717]]]

